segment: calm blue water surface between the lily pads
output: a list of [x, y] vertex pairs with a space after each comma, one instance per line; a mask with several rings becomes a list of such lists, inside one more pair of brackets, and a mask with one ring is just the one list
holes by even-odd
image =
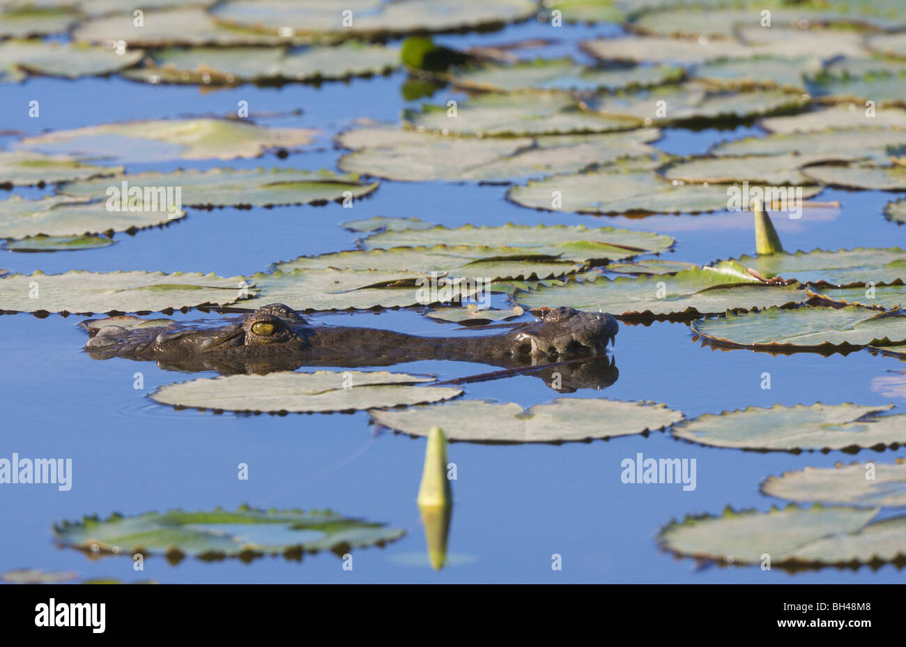
[[[575, 53], [581, 38], [612, 34], [607, 26], [563, 27], [561, 43], [545, 55]], [[549, 36], [534, 22], [498, 34], [451, 35], [444, 43], [463, 46]], [[32, 79], [5, 85], [0, 93], [4, 129], [35, 134], [104, 121], [226, 114], [238, 101], [253, 113], [278, 113], [259, 121], [275, 126], [322, 131], [309, 152], [287, 159], [236, 160], [234, 167], [335, 169], [340, 151], [333, 135], [368, 117], [397, 121], [404, 101], [405, 75], [328, 83], [321, 88], [287, 85], [282, 89], [244, 85], [217, 92], [193, 87], [149, 86], [120, 79], [67, 82]], [[456, 93], [441, 90], [428, 100], [444, 102]], [[40, 101], [41, 117], [29, 119], [28, 102]], [[420, 102], [420, 101], [419, 101]], [[292, 114], [301, 108], [301, 115]], [[712, 143], [757, 132], [754, 127], [692, 132], [669, 130], [657, 146], [673, 153], [702, 153]], [[2, 138], [5, 146], [13, 136]], [[208, 168], [213, 162], [132, 165], [145, 169]], [[188, 217], [163, 229], [118, 234], [107, 248], [57, 254], [3, 252], [0, 266], [12, 272], [47, 273], [163, 270], [216, 272], [219, 275], [265, 271], [271, 263], [300, 255], [351, 249], [355, 237], [339, 227], [351, 218], [375, 215], [417, 216], [455, 227], [472, 223], [500, 225], [594, 224], [657, 231], [677, 237], [676, 260], [708, 263], [716, 258], [754, 253], [750, 214], [589, 217], [549, 214], [519, 208], [504, 198], [506, 188], [475, 184], [384, 181], [373, 197], [354, 208], [283, 207], [214, 211], [190, 209]], [[24, 196], [38, 189], [17, 190]], [[776, 218], [788, 250], [815, 247], [902, 245], [902, 230], [882, 217], [890, 199], [881, 192], [825, 190], [821, 200], [838, 199], [839, 210], [806, 210], [799, 220]], [[177, 314], [195, 319], [198, 313]], [[212, 314], [210, 316], [217, 316]], [[429, 322], [414, 312], [320, 314], [326, 323], [380, 326], [410, 333], [445, 333], [452, 324]], [[425, 539], [415, 506], [425, 450], [424, 439], [376, 434], [364, 412], [287, 416], [214, 415], [173, 410], [146, 394], [159, 385], [192, 376], [161, 371], [152, 362], [92, 360], [82, 352], [85, 335], [79, 317], [30, 314], [0, 317], [0, 403], [3, 430], [0, 457], [72, 459], [72, 489], [46, 486], [0, 488], [4, 530], [0, 533], [0, 572], [16, 567], [73, 570], [82, 578], [116, 577], [159, 582], [747, 582], [830, 583], [899, 582], [893, 566], [872, 571], [825, 569], [788, 575], [757, 567], [698, 569], [658, 548], [660, 526], [686, 514], [719, 513], [727, 505], [766, 510], [782, 501], [765, 497], [758, 486], [768, 475], [806, 465], [829, 467], [852, 456], [743, 452], [710, 449], [654, 432], [611, 441], [562, 446], [485, 446], [454, 443], [449, 459], [457, 463], [453, 483], [456, 506], [449, 541], [450, 564], [429, 568]], [[856, 352], [847, 357], [799, 353], [712, 350], [693, 343], [685, 323], [623, 324], [614, 352], [620, 379], [605, 391], [578, 391], [572, 397], [651, 400], [683, 410], [689, 417], [750, 405], [810, 404], [815, 401], [886, 404], [892, 399], [871, 389], [873, 378], [898, 369], [892, 358]], [[413, 362], [400, 372], [430, 372], [441, 380], [494, 370], [464, 362]], [[133, 389], [134, 373], [144, 374], [144, 391]], [[772, 389], [762, 390], [763, 372]], [[212, 376], [200, 373], [198, 376]], [[557, 397], [532, 376], [467, 384], [466, 397], [516, 401], [524, 407]], [[894, 399], [898, 404], [901, 401]], [[652, 458], [698, 461], [698, 487], [623, 485], [620, 463], [638, 452]], [[882, 455], [864, 450], [859, 460], [892, 461], [904, 449]], [[236, 478], [247, 463], [249, 479]], [[206, 563], [187, 559], [169, 565], [149, 557], [136, 573], [126, 557], [90, 560], [53, 544], [55, 521], [83, 514], [125, 515], [181, 507], [303, 507], [333, 509], [403, 527], [407, 535], [385, 548], [353, 551], [352, 572], [330, 553], [306, 555], [301, 564], [282, 558]], [[563, 556], [563, 571], [551, 569], [551, 556]]]

